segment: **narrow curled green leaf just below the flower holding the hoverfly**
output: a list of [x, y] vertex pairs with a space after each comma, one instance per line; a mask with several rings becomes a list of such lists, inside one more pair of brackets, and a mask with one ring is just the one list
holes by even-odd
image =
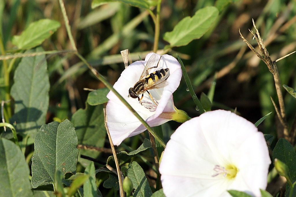
[[[128, 159], [134, 157], [136, 154], [138, 154], [142, 151], [145, 151], [151, 147], [152, 147], [152, 145], [151, 145], [150, 140], [144, 139], [143, 144], [141, 144], [141, 146], [138, 149], [136, 149], [130, 153], [128, 153], [126, 151], [121, 151], [121, 152], [117, 153], [116, 156], [117, 156], [119, 165], [124, 164], [126, 161], [128, 161]], [[114, 161], [113, 156], [108, 157], [107, 164], [110, 166], [115, 166], [115, 161]]]

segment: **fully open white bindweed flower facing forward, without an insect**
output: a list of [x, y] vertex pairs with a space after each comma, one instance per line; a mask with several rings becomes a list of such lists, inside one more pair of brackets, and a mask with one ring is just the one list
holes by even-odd
[[165, 196], [260, 196], [271, 161], [263, 133], [225, 110], [203, 113], [172, 134], [160, 162]]

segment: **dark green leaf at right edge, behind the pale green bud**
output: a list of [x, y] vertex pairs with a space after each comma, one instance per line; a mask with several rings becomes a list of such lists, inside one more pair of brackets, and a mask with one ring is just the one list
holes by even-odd
[[284, 138], [279, 139], [274, 147], [273, 160], [279, 159], [288, 166], [288, 176], [294, 182], [296, 180], [296, 153], [293, 146]]

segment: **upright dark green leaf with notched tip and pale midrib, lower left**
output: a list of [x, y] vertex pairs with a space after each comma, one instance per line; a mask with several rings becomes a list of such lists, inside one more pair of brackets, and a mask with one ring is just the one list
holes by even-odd
[[50, 183], [55, 185], [54, 175], [57, 170], [74, 174], [79, 152], [77, 145], [75, 128], [69, 120], [43, 125], [34, 142], [32, 187]]

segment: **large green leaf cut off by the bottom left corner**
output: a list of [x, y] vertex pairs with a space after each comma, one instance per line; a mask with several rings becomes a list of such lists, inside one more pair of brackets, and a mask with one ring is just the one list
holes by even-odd
[[12, 141], [0, 140], [0, 196], [33, 196], [30, 170], [21, 150]]

